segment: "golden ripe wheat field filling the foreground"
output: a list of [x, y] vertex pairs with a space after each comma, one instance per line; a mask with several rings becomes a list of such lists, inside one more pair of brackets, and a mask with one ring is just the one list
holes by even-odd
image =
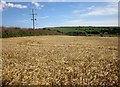
[[2, 39], [5, 85], [117, 85], [117, 37]]

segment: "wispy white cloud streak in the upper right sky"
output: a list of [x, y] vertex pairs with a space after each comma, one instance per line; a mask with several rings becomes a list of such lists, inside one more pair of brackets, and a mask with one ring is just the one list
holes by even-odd
[[90, 6], [84, 9], [83, 11], [76, 9], [73, 11], [73, 13], [81, 17], [114, 15], [114, 14], [118, 14], [118, 3], [109, 2], [108, 5], [106, 6]]

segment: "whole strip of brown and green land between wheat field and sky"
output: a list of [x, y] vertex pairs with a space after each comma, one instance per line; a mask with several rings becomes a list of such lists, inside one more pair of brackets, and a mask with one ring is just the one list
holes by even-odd
[[[1, 30], [1, 28], [0, 28]], [[54, 28], [17, 28], [2, 27], [2, 37], [22, 37], [40, 35], [70, 35], [70, 36], [117, 36], [118, 27], [54, 27]]]

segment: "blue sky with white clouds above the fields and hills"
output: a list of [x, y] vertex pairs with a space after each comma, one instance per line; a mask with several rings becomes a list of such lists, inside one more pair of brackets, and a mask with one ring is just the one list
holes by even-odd
[[49, 2], [43, 2], [43, 0], [32, 2], [2, 1], [0, 13], [2, 13], [3, 26], [32, 27], [32, 16], [30, 15], [32, 8], [36, 9], [37, 13], [36, 27], [118, 25], [118, 0], [114, 0], [114, 2], [112, 2], [113, 0], [109, 0], [109, 2], [108, 0], [104, 0], [104, 2], [87, 2], [88, 0], [84, 0], [84, 2], [82, 2], [83, 0], [74, 0], [79, 2], [64, 2], [73, 0], [44, 1]]

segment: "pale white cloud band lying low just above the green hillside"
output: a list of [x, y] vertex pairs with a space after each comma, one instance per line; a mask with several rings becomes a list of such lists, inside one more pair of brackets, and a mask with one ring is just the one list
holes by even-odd
[[90, 21], [84, 21], [84, 20], [69, 20], [64, 22], [62, 25], [66, 26], [117, 26], [118, 21], [117, 19], [109, 19], [109, 20], [90, 20]]

